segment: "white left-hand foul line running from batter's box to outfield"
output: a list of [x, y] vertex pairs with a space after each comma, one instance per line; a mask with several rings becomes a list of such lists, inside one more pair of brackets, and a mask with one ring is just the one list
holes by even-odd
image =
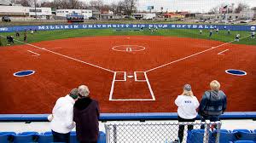
[[[0, 36], [3, 37], [3, 35], [0, 35]], [[14, 39], [14, 40], [15, 40], [15, 39]], [[17, 41], [17, 42], [19, 42], [19, 43], [24, 43], [24, 42], [19, 41], [19, 40], [15, 40], [15, 41]], [[41, 48], [41, 47], [32, 45], [32, 44], [30, 44], [30, 43], [25, 43], [25, 44], [27, 44], [27, 45], [29, 45], [29, 46], [32, 46], [32, 47], [34, 47], [34, 48], [38, 48], [38, 49], [42, 49], [42, 50], [48, 51], [49, 53], [52, 53], [52, 54], [61, 55], [62, 57], [65, 57], [65, 58], [70, 59], [70, 60], [76, 60], [76, 61], [79, 61], [79, 62], [84, 63], [84, 64], [86, 64], [86, 65], [94, 66], [94, 67], [100, 68], [100, 69], [105, 70], [105, 71], [108, 71], [108, 72], [113, 72], [112, 70], [109, 70], [109, 69], [107, 69], [107, 68], [104, 68], [104, 67], [101, 67], [101, 66], [96, 66], [96, 65], [90, 64], [90, 63], [88, 63], [88, 62], [85, 62], [85, 61], [83, 61], [83, 60], [78, 60], [78, 59], [72, 58], [72, 57], [67, 56], [67, 55], [64, 55], [64, 54], [59, 54], [59, 53], [56, 53], [56, 52], [51, 51], [51, 50], [49, 50], [49, 49]]]

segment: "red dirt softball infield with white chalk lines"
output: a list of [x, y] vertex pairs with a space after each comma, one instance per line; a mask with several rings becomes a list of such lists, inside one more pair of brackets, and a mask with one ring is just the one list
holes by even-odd
[[[0, 113], [50, 113], [59, 97], [80, 84], [88, 85], [101, 112], [177, 112], [174, 100], [185, 83], [201, 100], [214, 79], [227, 95], [228, 112], [256, 111], [256, 46], [221, 44], [185, 37], [112, 36], [1, 47]], [[119, 45], [128, 46], [113, 50]], [[135, 51], [141, 47], [145, 49]], [[227, 69], [247, 75], [230, 75]], [[35, 73], [13, 75], [23, 70]]]

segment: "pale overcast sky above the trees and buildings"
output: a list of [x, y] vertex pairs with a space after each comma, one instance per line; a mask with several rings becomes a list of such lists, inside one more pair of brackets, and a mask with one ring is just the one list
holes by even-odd
[[[41, 0], [41, 1], [53, 1], [53, 0]], [[90, 0], [80, 0], [83, 2], [89, 2]], [[103, 3], [118, 3], [119, 0], [102, 0]], [[190, 11], [190, 12], [208, 12], [215, 6], [222, 3], [230, 4], [235, 3], [247, 3], [250, 7], [256, 7], [256, 0], [137, 0], [137, 9], [147, 10], [148, 6], [154, 6], [154, 10], [160, 11], [163, 7], [163, 11]]]

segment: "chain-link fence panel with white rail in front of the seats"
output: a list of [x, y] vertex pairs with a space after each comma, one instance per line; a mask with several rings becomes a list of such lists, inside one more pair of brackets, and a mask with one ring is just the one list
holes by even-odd
[[106, 123], [107, 143], [218, 143], [221, 123]]

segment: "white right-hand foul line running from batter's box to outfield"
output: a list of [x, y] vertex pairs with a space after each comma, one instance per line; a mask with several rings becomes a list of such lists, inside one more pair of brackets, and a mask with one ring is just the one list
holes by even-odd
[[[246, 36], [246, 37], [250, 37], [250, 35], [248, 35], [248, 36]], [[243, 39], [243, 38], [246, 38], [246, 37], [241, 37], [240, 39]], [[235, 41], [236, 41], [236, 40], [233, 40], [233, 41], [230, 41], [229, 43], [234, 43]], [[190, 57], [193, 57], [193, 56], [198, 55], [198, 54], [205, 53], [205, 52], [207, 52], [207, 51], [209, 51], [209, 50], [212, 50], [212, 49], [217, 49], [218, 47], [224, 46], [224, 45], [229, 44], [229, 43], [223, 43], [223, 44], [220, 44], [220, 45], [218, 45], [218, 46], [212, 47], [211, 49], [206, 49], [206, 50], [203, 50], [203, 51], [201, 51], [201, 52], [198, 52], [198, 53], [195, 53], [195, 54], [191, 54], [191, 55], [189, 55], [189, 56], [183, 57], [182, 59], [178, 59], [178, 60], [171, 61], [171, 62], [169, 62], [169, 63], [166, 63], [166, 64], [162, 65], [162, 66], [154, 67], [154, 68], [152, 68], [152, 69], [149, 69], [149, 70], [146, 71], [146, 72], [151, 72], [151, 71], [154, 71], [154, 70], [159, 69], [159, 68], [161, 68], [161, 67], [171, 65], [171, 64], [173, 64], [173, 63], [176, 63], [177, 61], [189, 59]]]

